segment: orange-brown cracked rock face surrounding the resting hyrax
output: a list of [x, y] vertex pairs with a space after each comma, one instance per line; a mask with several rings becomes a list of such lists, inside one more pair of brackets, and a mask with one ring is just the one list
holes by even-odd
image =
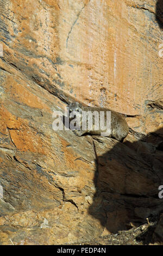
[[[163, 211], [160, 2], [0, 0], [2, 245], [88, 242]], [[54, 131], [75, 99], [126, 114], [125, 141]]]

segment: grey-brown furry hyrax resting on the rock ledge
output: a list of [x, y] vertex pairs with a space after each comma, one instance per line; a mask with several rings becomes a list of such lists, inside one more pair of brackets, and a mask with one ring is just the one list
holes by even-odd
[[[78, 103], [78, 102], [73, 102], [70, 103], [69, 105], [69, 116], [70, 116], [70, 121], [74, 118], [73, 113], [76, 114], [76, 117], [78, 117], [80, 119], [80, 122], [78, 124], [79, 129], [78, 130], [74, 130], [73, 132], [77, 135], [77, 136], [82, 136], [85, 133], [90, 133], [92, 135], [102, 135], [104, 132], [108, 132], [108, 131], [103, 131], [100, 130], [100, 125], [99, 129], [96, 130], [95, 128], [97, 127], [96, 121], [94, 116], [92, 115], [92, 119], [93, 119], [93, 125], [92, 125], [92, 129], [91, 130], [82, 130], [82, 113], [91, 111], [92, 113], [94, 111], [98, 112], [100, 114], [100, 112], [104, 112], [104, 124], [106, 125], [106, 112], [109, 111], [111, 112], [111, 131], [110, 133], [108, 133], [108, 135], [106, 135], [107, 137], [112, 137], [117, 139], [117, 141], [122, 141], [129, 132], [129, 127], [128, 124], [126, 122], [126, 120], [122, 117], [121, 114], [112, 111], [110, 109], [107, 108], [99, 108], [99, 107], [86, 107], [86, 106], [82, 106], [82, 104]], [[73, 113], [72, 113], [73, 112]], [[99, 120], [98, 120], [99, 121]]]

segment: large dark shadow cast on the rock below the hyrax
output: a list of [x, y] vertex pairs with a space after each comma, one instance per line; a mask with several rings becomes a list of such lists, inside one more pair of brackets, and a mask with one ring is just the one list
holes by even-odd
[[[139, 227], [147, 223], [147, 218], [156, 222], [163, 212], [163, 198], [159, 198], [159, 186], [163, 185], [163, 129], [147, 136], [130, 131], [123, 143], [92, 137], [96, 194], [89, 214], [101, 222], [108, 234]], [[149, 241], [145, 236], [137, 239]]]

